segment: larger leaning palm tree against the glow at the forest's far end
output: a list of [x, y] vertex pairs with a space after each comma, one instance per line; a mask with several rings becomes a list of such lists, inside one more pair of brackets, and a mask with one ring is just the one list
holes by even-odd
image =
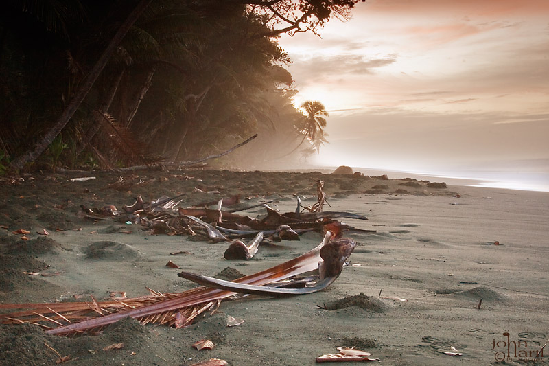
[[305, 142], [305, 139], [309, 139], [311, 144], [313, 145], [314, 150], [318, 152], [320, 150], [320, 146], [323, 145], [325, 142], [328, 142], [325, 139], [325, 136], [328, 134], [324, 132], [324, 128], [326, 128], [326, 119], [323, 116], [329, 117], [328, 111], [326, 111], [326, 107], [324, 104], [318, 102], [315, 100], [314, 102], [307, 100], [307, 102], [304, 102], [300, 106], [303, 113], [303, 119], [301, 119], [301, 122], [298, 126], [296, 126], [300, 133], [303, 133], [303, 139], [301, 139], [301, 142], [299, 143], [294, 150], [288, 152], [288, 154], [285, 154], [282, 157], [287, 157], [288, 155], [292, 154], [295, 150], [299, 148]]

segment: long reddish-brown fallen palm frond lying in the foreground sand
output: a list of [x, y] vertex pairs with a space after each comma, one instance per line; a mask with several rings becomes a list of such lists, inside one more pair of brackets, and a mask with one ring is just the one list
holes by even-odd
[[[328, 231], [318, 247], [298, 258], [265, 271], [242, 277], [235, 280], [235, 283], [264, 286], [317, 269], [320, 273], [320, 279], [325, 279], [325, 277], [334, 277], [335, 279], [341, 273], [343, 262], [347, 260], [353, 251], [354, 242], [345, 239], [351, 244], [347, 245], [345, 251], [341, 251], [341, 240], [330, 242], [331, 235], [331, 232]], [[323, 258], [328, 257], [331, 258], [328, 261], [331, 264], [326, 266]], [[318, 290], [322, 288], [325, 288], [325, 286], [319, 286]], [[150, 291], [152, 295], [110, 301], [95, 301], [92, 298], [93, 301], [91, 302], [66, 304], [0, 304], [0, 309], [30, 309], [10, 314], [0, 314], [0, 322], [35, 323], [46, 328], [47, 333], [58, 335], [95, 332], [126, 317], [137, 319], [143, 324], [161, 323], [182, 328], [190, 325], [199, 314], [215, 309], [222, 299], [241, 292], [237, 288], [222, 290], [208, 287], [193, 288], [183, 293], [163, 294]], [[246, 291], [242, 292], [245, 293]], [[273, 294], [266, 293], [266, 295]], [[44, 321], [47, 321], [49, 325], [38, 323]]]

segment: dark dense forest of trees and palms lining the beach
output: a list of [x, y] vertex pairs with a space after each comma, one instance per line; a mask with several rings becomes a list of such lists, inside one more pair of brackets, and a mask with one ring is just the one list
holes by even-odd
[[[33, 148], [63, 114], [130, 0], [9, 0], [0, 12], [0, 152]], [[259, 133], [261, 146], [322, 133], [292, 106], [282, 32], [316, 32], [354, 0], [158, 0], [132, 23], [42, 160], [75, 168], [191, 160]], [[324, 121], [325, 126], [325, 121]], [[305, 137], [304, 137], [305, 135]], [[318, 140], [318, 141], [317, 141]], [[324, 140], [325, 141], [325, 140]], [[316, 145], [315, 145], [316, 144]], [[246, 156], [248, 163], [272, 156]], [[242, 156], [240, 157], [242, 158]], [[4, 166], [4, 165], [3, 165]]]

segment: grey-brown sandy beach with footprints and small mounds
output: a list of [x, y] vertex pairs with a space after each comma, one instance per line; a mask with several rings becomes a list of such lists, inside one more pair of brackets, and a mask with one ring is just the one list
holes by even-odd
[[[69, 180], [79, 176], [96, 179]], [[262, 245], [251, 260], [227, 261], [223, 242], [151, 235], [139, 225], [78, 218], [80, 205], [120, 209], [139, 194], [145, 201], [185, 194], [180, 205], [186, 207], [240, 193], [242, 205], [276, 199], [270, 205], [287, 212], [295, 210], [294, 194], [305, 197], [305, 205], [315, 203], [321, 179], [331, 205], [326, 211], [367, 216], [369, 221], [342, 221], [376, 232], [345, 235], [357, 247], [326, 290], [223, 301], [219, 312], [188, 328], [125, 319], [99, 336], [66, 338], [35, 325], [0, 325], [2, 365], [55, 365], [58, 356], [46, 344], [62, 356], [78, 357], [70, 365], [190, 365], [209, 358], [230, 365], [313, 365], [322, 354], [338, 353], [338, 346], [371, 352], [383, 365], [489, 365], [515, 358], [514, 345], [521, 346], [517, 358], [522, 360], [506, 358], [506, 365], [549, 365], [549, 347], [543, 358], [532, 360], [549, 338], [547, 192], [437, 189], [425, 181], [320, 172], [174, 170], [122, 176], [119, 183], [120, 175], [104, 172], [0, 182], [1, 304], [107, 299], [110, 291], [137, 297], [148, 295], [145, 286], [176, 293], [195, 285], [165, 266], [170, 260], [202, 275], [226, 267], [250, 275], [321, 240], [320, 233], [305, 233], [300, 241]], [[221, 195], [192, 193], [195, 187]], [[244, 213], [255, 217], [264, 211]], [[28, 240], [12, 233], [18, 229], [30, 231]], [[48, 236], [37, 233], [43, 229]], [[186, 253], [170, 255], [176, 251]], [[228, 328], [228, 315], [244, 323]], [[191, 348], [200, 339], [211, 339], [213, 350]], [[124, 347], [103, 350], [113, 343]], [[450, 347], [462, 355], [444, 354]]]

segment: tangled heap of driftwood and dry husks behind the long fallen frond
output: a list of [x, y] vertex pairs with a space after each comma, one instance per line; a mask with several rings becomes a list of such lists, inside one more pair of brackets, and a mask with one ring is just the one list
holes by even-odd
[[[229, 242], [224, 255], [227, 260], [248, 260], [257, 253], [261, 242], [299, 240], [299, 235], [307, 231], [375, 232], [356, 229], [336, 220], [368, 220], [366, 216], [344, 211], [323, 211], [325, 203], [329, 205], [323, 187], [323, 181], [317, 181], [318, 201], [314, 205], [302, 205], [301, 198], [297, 196], [296, 210], [285, 214], [280, 214], [268, 205], [274, 200], [257, 205], [222, 209], [239, 205], [240, 195], [220, 198], [218, 201], [205, 202], [193, 207], [178, 207], [181, 203], [178, 199], [184, 195], [181, 194], [174, 198], [161, 196], [149, 203], [145, 203], [142, 196], [138, 196], [132, 205], [124, 205], [120, 211], [114, 205], [91, 209], [81, 205], [82, 210], [78, 215], [91, 220], [118, 218], [126, 224], [141, 225], [152, 235], [189, 235], [202, 237], [209, 242]], [[209, 208], [212, 206], [214, 207]], [[236, 214], [238, 211], [261, 206], [266, 209], [266, 214], [262, 217], [253, 218]], [[250, 242], [244, 242], [245, 238], [250, 238]]]

